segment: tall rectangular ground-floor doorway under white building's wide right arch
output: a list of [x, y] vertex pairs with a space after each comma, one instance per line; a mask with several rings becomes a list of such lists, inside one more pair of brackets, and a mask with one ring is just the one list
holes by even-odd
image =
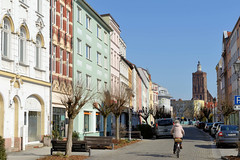
[[41, 140], [41, 112], [28, 113], [28, 142]]

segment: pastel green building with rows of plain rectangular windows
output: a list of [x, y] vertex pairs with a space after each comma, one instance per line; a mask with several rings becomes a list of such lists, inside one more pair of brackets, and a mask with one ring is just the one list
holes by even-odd
[[[92, 92], [110, 87], [111, 28], [84, 0], [73, 1], [73, 80], [86, 85]], [[97, 100], [97, 99], [96, 99]], [[87, 104], [74, 120], [74, 131], [85, 135], [100, 135], [101, 115]]]

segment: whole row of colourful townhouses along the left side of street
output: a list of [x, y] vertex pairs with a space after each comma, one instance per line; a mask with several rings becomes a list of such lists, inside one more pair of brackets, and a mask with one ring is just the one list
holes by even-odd
[[[66, 82], [84, 83], [99, 93], [131, 88], [132, 110], [120, 118], [125, 128], [129, 121], [133, 128], [142, 123], [139, 110], [159, 107], [159, 93], [162, 106], [170, 110], [167, 90], [126, 59], [120, 26], [110, 14], [99, 15], [85, 0], [2, 0], [0, 11], [0, 136], [8, 151], [39, 143], [52, 130], [67, 136], [60, 101]], [[149, 121], [153, 124], [154, 118]], [[113, 115], [107, 124], [113, 135]], [[92, 104], [75, 118], [74, 131], [81, 139], [102, 135], [103, 118]]]

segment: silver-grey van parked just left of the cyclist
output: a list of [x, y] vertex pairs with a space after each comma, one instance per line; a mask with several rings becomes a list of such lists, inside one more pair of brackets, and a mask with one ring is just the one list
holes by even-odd
[[173, 119], [172, 118], [163, 118], [156, 120], [156, 137], [161, 136], [171, 136], [171, 129], [173, 127]]

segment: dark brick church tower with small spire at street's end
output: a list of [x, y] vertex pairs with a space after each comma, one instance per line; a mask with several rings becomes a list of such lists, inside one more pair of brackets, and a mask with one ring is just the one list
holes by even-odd
[[208, 101], [207, 73], [198, 61], [197, 72], [192, 73], [192, 99]]

